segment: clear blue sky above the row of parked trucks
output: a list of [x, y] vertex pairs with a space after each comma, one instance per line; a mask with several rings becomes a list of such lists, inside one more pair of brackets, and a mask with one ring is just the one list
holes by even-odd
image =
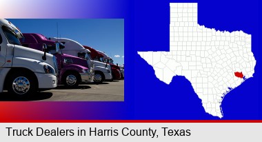
[[22, 33], [39, 33], [46, 37], [73, 39], [124, 63], [123, 19], [8, 19]]

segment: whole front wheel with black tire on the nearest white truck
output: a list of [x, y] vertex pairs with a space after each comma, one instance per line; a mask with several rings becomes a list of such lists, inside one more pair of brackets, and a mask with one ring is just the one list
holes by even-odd
[[8, 79], [8, 92], [16, 97], [26, 97], [37, 92], [36, 84], [32, 75], [16, 72]]

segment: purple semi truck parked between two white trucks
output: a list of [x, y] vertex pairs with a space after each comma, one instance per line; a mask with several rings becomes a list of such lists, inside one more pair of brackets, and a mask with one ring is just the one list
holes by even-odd
[[[88, 83], [94, 81], [94, 68], [90, 67], [91, 63], [88, 65], [85, 59], [63, 54], [60, 49], [63, 49], [65, 46], [62, 43], [50, 41], [42, 34], [23, 33], [23, 37], [20, 40], [23, 46], [43, 50], [43, 44], [46, 44], [48, 52], [57, 57], [59, 85], [76, 88], [81, 82]], [[59, 49], [56, 49], [58, 47], [56, 44], [59, 44]]]

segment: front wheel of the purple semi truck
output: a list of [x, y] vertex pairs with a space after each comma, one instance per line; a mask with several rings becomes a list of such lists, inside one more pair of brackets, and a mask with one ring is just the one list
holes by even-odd
[[68, 88], [77, 88], [80, 82], [79, 75], [74, 72], [69, 72], [64, 76], [63, 82]]

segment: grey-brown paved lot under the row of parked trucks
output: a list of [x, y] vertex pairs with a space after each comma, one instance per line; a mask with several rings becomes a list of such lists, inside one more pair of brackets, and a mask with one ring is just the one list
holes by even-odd
[[53, 90], [39, 92], [32, 97], [17, 99], [7, 92], [0, 93], [0, 101], [124, 101], [124, 80], [102, 84], [83, 84], [76, 89], [63, 85]]

